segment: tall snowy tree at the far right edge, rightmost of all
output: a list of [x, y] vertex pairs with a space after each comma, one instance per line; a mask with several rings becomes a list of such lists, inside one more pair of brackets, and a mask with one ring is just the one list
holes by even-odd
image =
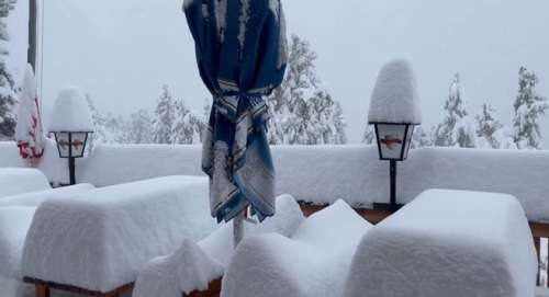
[[546, 98], [536, 93], [538, 81], [536, 73], [520, 67], [513, 118], [514, 141], [519, 149], [541, 148], [539, 122], [545, 115], [548, 104]]

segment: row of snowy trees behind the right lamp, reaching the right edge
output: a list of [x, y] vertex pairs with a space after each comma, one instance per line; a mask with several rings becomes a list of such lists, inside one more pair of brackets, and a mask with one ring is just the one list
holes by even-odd
[[[513, 119], [504, 125], [497, 111], [490, 103], [482, 104], [479, 114], [472, 116], [463, 99], [461, 80], [456, 73], [444, 104], [441, 123], [425, 129], [417, 127], [412, 148], [439, 146], [490, 149], [541, 149], [540, 123], [549, 107], [547, 98], [536, 91], [539, 79], [525, 67], [518, 70], [518, 91], [513, 103]], [[371, 126], [366, 128], [363, 142], [374, 142]]]

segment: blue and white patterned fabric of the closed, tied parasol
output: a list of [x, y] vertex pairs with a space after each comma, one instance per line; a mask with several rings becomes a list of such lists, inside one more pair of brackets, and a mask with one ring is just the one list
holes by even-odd
[[274, 168], [267, 142], [264, 96], [287, 65], [280, 0], [186, 0], [200, 76], [213, 105], [202, 169], [210, 176], [212, 216], [228, 221], [251, 207], [274, 215]]

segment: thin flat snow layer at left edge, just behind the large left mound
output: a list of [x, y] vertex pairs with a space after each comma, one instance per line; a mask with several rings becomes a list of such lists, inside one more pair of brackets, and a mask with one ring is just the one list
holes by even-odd
[[0, 198], [0, 206], [38, 206], [43, 202], [53, 198], [67, 198], [82, 192], [94, 189], [91, 184], [77, 184], [51, 189], [46, 191], [19, 194]]

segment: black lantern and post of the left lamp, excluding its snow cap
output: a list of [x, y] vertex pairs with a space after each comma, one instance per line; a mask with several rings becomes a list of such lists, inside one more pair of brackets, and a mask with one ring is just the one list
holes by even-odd
[[68, 159], [69, 184], [76, 184], [76, 158], [82, 158], [88, 135], [92, 132], [53, 132], [59, 158]]

